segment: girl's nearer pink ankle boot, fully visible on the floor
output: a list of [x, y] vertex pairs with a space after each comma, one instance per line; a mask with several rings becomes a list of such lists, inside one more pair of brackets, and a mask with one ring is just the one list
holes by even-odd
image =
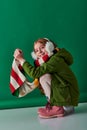
[[39, 113], [39, 117], [41, 118], [54, 118], [54, 117], [63, 117], [64, 116], [63, 107], [53, 106], [51, 109], [43, 109], [41, 113]]

